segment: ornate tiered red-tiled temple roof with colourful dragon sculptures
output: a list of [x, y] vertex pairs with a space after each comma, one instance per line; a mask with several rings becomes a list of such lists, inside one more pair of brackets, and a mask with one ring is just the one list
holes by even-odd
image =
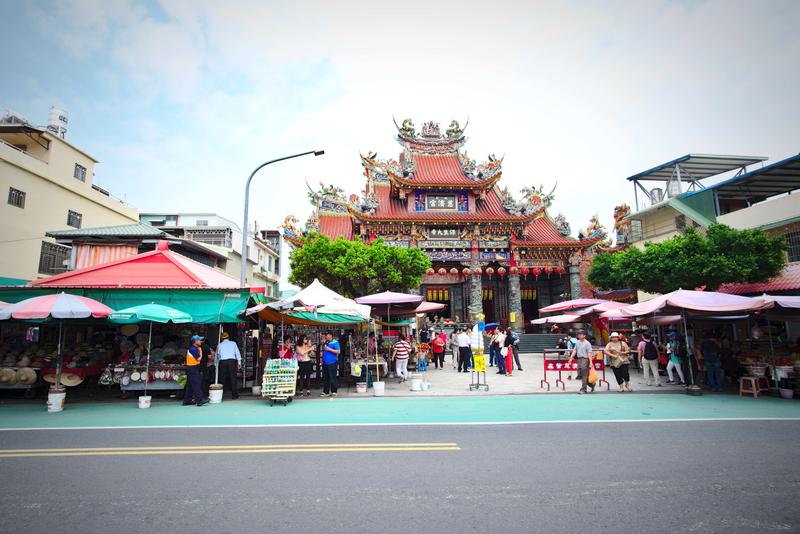
[[[586, 239], [569, 237], [563, 217], [552, 220], [547, 215], [554, 191], [525, 187], [518, 200], [498, 187], [503, 159], [490, 155], [485, 163], [471, 160], [461, 150], [466, 138], [458, 122], [452, 121], [444, 134], [433, 122], [424, 123], [419, 133], [410, 119], [395, 125], [403, 147], [399, 161], [379, 160], [375, 152], [362, 154], [367, 184], [360, 196], [346, 197], [340, 188], [322, 183], [318, 191], [309, 186], [315, 212], [306, 231], [353, 239], [359, 226], [364, 233], [364, 226], [371, 225], [501, 223], [520, 246], [581, 248], [598, 241], [588, 231]], [[284, 234], [299, 245], [304, 232], [295, 223], [287, 217]]]

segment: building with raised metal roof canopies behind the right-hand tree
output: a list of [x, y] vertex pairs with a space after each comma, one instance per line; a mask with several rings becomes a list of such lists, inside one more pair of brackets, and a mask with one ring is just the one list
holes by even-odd
[[[762, 228], [786, 238], [789, 263], [784, 272], [765, 283], [729, 284], [720, 291], [800, 294], [800, 154], [748, 170], [764, 159], [689, 154], [628, 178], [651, 200], [651, 205], [626, 218], [631, 223], [631, 244], [643, 247], [646, 242], [663, 241], [686, 226], [708, 228], [719, 223], [739, 230]], [[720, 181], [721, 173], [732, 176]], [[676, 181], [676, 176], [682, 179]], [[717, 182], [704, 185], [701, 180], [706, 178]], [[667, 181], [663, 200], [658, 196], [662, 189], [648, 192], [639, 183], [658, 179]]]

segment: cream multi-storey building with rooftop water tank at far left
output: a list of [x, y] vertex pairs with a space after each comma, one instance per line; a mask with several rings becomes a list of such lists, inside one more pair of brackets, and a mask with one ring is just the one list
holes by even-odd
[[69, 248], [50, 230], [137, 223], [138, 211], [94, 183], [98, 161], [67, 142], [67, 115], [47, 127], [11, 112], [0, 118], [0, 277], [21, 282], [64, 272]]

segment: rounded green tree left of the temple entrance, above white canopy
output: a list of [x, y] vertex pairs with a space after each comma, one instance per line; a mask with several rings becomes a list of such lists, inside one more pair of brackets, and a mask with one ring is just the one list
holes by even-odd
[[428, 256], [416, 248], [394, 247], [381, 239], [370, 244], [341, 237], [332, 241], [319, 233], [307, 236], [289, 261], [291, 283], [305, 287], [317, 278], [351, 298], [419, 287], [431, 266]]

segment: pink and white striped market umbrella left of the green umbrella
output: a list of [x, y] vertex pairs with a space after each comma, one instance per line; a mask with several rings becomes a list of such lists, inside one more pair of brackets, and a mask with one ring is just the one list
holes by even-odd
[[108, 317], [111, 308], [96, 300], [56, 293], [22, 300], [0, 308], [0, 320], [6, 319], [86, 319]]

